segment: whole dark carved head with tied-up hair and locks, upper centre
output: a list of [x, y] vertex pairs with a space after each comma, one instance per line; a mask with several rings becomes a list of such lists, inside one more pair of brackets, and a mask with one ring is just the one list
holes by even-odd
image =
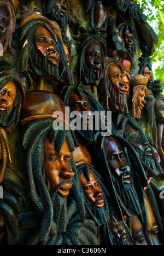
[[[81, 31], [82, 32], [82, 31]], [[79, 84], [97, 85], [104, 72], [106, 40], [104, 34], [84, 32], [79, 41]]]

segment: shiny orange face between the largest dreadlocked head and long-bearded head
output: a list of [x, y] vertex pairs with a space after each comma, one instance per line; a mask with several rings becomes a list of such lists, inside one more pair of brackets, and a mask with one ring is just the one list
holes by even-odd
[[98, 186], [97, 179], [93, 176], [91, 172], [89, 182], [86, 180], [84, 174], [81, 174], [81, 185], [90, 203], [93, 206], [102, 209], [104, 207], [103, 192], [102, 189]]

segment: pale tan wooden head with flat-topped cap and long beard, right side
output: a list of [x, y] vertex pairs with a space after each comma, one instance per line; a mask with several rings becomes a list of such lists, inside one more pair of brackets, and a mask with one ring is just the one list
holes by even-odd
[[133, 97], [132, 97], [132, 116], [134, 118], [140, 119], [142, 109], [145, 107], [145, 97], [148, 94], [148, 78], [142, 74], [135, 75], [134, 77], [134, 87], [133, 87]]

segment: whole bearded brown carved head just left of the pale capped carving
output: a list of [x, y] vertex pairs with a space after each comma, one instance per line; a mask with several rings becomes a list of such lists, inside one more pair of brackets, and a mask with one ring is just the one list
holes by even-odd
[[128, 112], [125, 84], [123, 81], [124, 69], [118, 62], [117, 56], [106, 57], [104, 77], [99, 83], [99, 91], [103, 108], [112, 112]]

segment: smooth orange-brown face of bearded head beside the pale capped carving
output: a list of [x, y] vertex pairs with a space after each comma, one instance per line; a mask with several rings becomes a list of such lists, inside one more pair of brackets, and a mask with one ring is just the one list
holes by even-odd
[[121, 73], [121, 70], [116, 65], [110, 65], [108, 69], [108, 75], [110, 82], [113, 86], [113, 89], [118, 92], [118, 94], [125, 94], [125, 85], [123, 82], [123, 75]]

